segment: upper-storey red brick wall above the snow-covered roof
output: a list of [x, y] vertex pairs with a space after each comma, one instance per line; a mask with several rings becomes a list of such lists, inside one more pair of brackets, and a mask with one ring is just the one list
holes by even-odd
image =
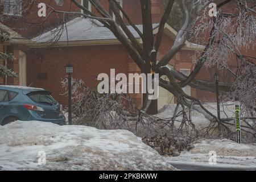
[[[80, 2], [80, 0], [77, 0]], [[44, 2], [47, 5], [53, 7], [58, 11], [81, 11], [74, 3], [70, 0], [64, 1], [63, 6], [57, 6], [54, 1], [52, 0], [42, 0], [40, 2]], [[106, 10], [109, 11], [109, 3], [106, 0], [100, 0], [102, 6]], [[42, 32], [51, 30], [63, 23], [63, 16], [59, 13], [51, 13], [51, 9], [47, 9], [47, 20], [43, 22], [44, 17], [38, 16], [39, 8], [38, 3], [34, 2], [32, 6], [28, 5], [31, 4], [31, 1], [25, 0], [23, 5], [26, 12], [23, 13], [24, 18], [19, 16], [9, 16], [6, 20], [2, 20], [1, 22], [6, 24], [7, 26], [13, 28], [15, 31], [19, 32], [22, 36], [26, 38], [32, 38], [36, 35], [42, 34]], [[130, 19], [134, 22], [134, 24], [141, 24], [141, 5], [138, 0], [123, 0], [123, 9], [129, 15]], [[1, 14], [0, 9], [0, 14]], [[93, 13], [97, 13], [96, 9], [92, 9]], [[160, 22], [160, 18], [162, 17], [164, 12], [163, 7], [163, 0], [152, 0], [152, 21], [153, 23]], [[67, 15], [68, 19], [75, 18], [77, 15]], [[29, 23], [28, 23], [29, 22]], [[127, 23], [126, 19], [125, 22]]]

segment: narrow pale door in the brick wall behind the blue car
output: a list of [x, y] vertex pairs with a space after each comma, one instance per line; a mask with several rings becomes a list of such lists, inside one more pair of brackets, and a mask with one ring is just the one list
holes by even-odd
[[27, 86], [26, 53], [19, 51], [19, 85]]

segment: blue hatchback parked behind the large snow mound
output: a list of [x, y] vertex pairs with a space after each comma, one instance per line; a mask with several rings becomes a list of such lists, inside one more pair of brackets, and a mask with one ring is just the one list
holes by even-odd
[[26, 86], [0, 85], [0, 125], [14, 121], [65, 124], [62, 105], [51, 92]]

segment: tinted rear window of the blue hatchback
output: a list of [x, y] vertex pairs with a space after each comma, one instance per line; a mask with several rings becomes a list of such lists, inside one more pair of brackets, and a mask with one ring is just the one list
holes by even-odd
[[50, 92], [47, 91], [36, 91], [28, 93], [27, 96], [34, 102], [38, 104], [46, 104], [46, 105], [56, 105], [57, 102], [51, 96]]

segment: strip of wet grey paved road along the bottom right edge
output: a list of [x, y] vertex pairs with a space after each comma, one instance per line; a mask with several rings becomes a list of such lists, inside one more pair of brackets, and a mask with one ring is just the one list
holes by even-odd
[[177, 169], [182, 171], [246, 171], [253, 170], [256, 171], [256, 168], [245, 169], [245, 168], [223, 168], [223, 167], [206, 167], [206, 166], [194, 166], [189, 164], [172, 164]]

